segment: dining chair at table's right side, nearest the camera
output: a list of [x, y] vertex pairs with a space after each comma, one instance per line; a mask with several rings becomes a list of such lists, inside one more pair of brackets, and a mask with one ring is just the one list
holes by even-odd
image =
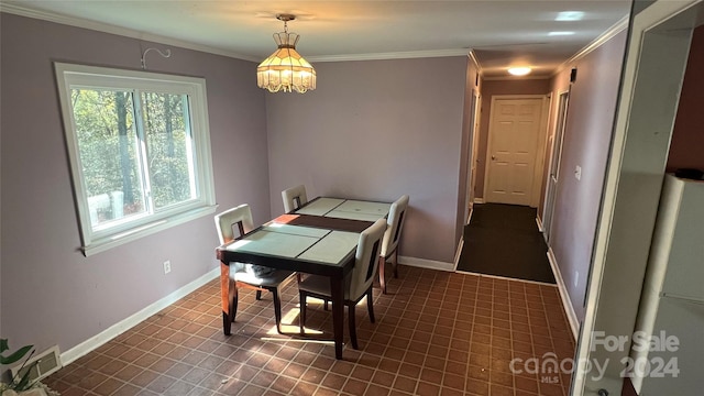
[[[360, 242], [354, 256], [354, 267], [348, 274], [344, 283], [344, 305], [348, 307], [348, 323], [350, 326], [350, 339], [352, 346], [359, 349], [356, 342], [356, 324], [354, 311], [358, 302], [366, 296], [366, 307], [370, 314], [370, 321], [374, 323], [374, 296], [372, 285], [378, 267], [378, 251], [386, 222], [384, 219], [362, 231]], [[300, 296], [300, 333], [305, 334], [306, 326], [306, 299], [307, 297], [320, 298], [324, 301], [331, 300], [330, 278], [318, 275], [309, 275], [298, 283]]]

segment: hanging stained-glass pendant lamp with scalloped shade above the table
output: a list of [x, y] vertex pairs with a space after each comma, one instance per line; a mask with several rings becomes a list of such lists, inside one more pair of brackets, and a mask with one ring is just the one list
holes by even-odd
[[284, 22], [284, 31], [274, 33], [278, 48], [256, 67], [256, 85], [270, 92], [296, 91], [304, 94], [316, 89], [316, 69], [296, 51], [299, 35], [288, 33], [288, 21], [293, 14], [277, 14]]

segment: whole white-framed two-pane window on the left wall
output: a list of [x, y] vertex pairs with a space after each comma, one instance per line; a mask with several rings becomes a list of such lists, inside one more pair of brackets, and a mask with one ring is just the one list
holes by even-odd
[[215, 212], [204, 79], [55, 69], [86, 255]]

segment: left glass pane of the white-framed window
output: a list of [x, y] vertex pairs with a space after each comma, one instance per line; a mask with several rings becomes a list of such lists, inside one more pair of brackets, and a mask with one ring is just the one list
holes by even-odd
[[72, 89], [72, 102], [92, 228], [143, 213], [132, 94]]

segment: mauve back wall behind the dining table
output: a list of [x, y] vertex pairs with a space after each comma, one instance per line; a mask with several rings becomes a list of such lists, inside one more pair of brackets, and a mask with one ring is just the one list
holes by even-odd
[[408, 194], [400, 255], [452, 263], [468, 57], [315, 66], [315, 91], [266, 96], [272, 213], [297, 184], [309, 198]]

